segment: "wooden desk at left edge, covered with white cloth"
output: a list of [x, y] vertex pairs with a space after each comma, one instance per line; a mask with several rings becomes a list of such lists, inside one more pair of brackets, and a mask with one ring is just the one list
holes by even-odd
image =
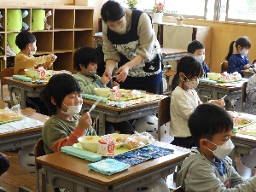
[[[27, 109], [22, 109], [22, 114], [32, 119], [45, 122], [49, 117], [40, 113], [35, 113]], [[42, 138], [42, 126], [26, 128], [19, 131], [0, 133], [0, 151], [12, 148], [34, 145]]]

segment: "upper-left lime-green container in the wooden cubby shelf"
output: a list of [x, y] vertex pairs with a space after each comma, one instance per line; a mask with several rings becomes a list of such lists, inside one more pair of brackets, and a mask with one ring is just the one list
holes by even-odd
[[20, 9], [7, 9], [7, 31], [20, 31], [22, 13]]

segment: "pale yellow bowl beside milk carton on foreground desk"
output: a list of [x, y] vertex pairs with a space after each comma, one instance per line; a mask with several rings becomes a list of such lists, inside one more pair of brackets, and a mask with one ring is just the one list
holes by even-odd
[[100, 136], [83, 136], [79, 137], [78, 141], [84, 150], [96, 153], [98, 150], [98, 141], [101, 139], [102, 137]]

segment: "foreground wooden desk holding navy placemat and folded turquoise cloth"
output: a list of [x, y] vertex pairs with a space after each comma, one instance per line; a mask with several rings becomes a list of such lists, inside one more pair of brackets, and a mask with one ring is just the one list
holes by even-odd
[[55, 186], [75, 191], [131, 191], [166, 177], [175, 169], [178, 162], [189, 155], [189, 149], [180, 148], [169, 143], [154, 142], [156, 146], [173, 148], [174, 153], [158, 159], [147, 160], [131, 166], [124, 172], [103, 175], [89, 169], [89, 161], [57, 152], [36, 159], [45, 170], [49, 182], [49, 190], [54, 192]]

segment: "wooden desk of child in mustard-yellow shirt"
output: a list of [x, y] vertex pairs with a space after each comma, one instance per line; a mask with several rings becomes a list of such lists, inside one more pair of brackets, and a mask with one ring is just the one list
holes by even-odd
[[26, 96], [39, 97], [46, 84], [33, 84], [32, 82], [24, 82], [12, 77], [6, 77], [6, 83], [8, 84], [9, 97], [11, 106], [14, 105], [12, 93], [20, 94], [20, 108], [26, 108]]

